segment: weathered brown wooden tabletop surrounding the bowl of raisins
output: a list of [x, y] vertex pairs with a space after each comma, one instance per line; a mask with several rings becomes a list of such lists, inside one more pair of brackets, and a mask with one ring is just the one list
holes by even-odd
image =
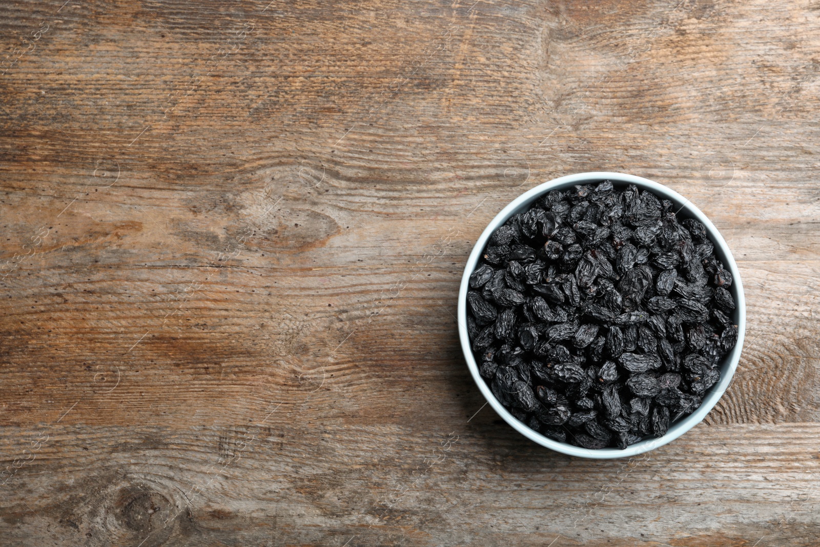
[[[817, 2], [0, 21], [0, 545], [820, 544]], [[483, 407], [454, 317], [500, 208], [596, 170], [700, 207], [749, 309], [705, 422], [612, 461]]]

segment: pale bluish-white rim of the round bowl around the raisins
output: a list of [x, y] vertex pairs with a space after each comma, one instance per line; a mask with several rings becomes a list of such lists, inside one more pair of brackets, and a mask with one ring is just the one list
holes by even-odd
[[[723, 267], [731, 272], [731, 276], [733, 278], [730, 292], [732, 297], [735, 299], [736, 308], [733, 319], [738, 327], [737, 344], [735, 345], [735, 348], [731, 350], [731, 353], [723, 358], [720, 381], [713, 385], [712, 389], [708, 390], [708, 392], [704, 395], [703, 403], [700, 407], [695, 410], [694, 413], [691, 413], [689, 416], [670, 425], [666, 435], [658, 438], [642, 440], [638, 443], [631, 444], [623, 450], [583, 449], [580, 446], [561, 443], [557, 440], [549, 439], [548, 437], [541, 435], [538, 431], [534, 431], [522, 422], [519, 422], [516, 417], [513, 417], [512, 414], [509, 413], [509, 411], [504, 408], [501, 403], [499, 403], [498, 399], [495, 399], [493, 392], [490, 390], [490, 386], [486, 384], [484, 378], [482, 378], [481, 374], [478, 372], [476, 358], [474, 358], [472, 354], [470, 337], [467, 335], [467, 290], [469, 289], [470, 276], [476, 269], [476, 265], [478, 264], [479, 258], [481, 258], [481, 253], [487, 245], [487, 240], [490, 239], [490, 235], [493, 235], [493, 232], [499, 226], [502, 226], [509, 217], [512, 217], [512, 215], [517, 212], [526, 211], [535, 199], [547, 194], [550, 190], [568, 189], [572, 188], [574, 185], [593, 184], [603, 180], [612, 180], [616, 186], [618, 185], [617, 183], [625, 183], [636, 185], [640, 189], [649, 189], [658, 197], [666, 198], [672, 203], [675, 203], [677, 207], [681, 207], [681, 217], [695, 218], [706, 226], [708, 237], [715, 245], [715, 255], [721, 262], [723, 262]], [[528, 439], [534, 440], [536, 443], [541, 444], [548, 449], [553, 449], [571, 456], [580, 456], [581, 458], [625, 458], [628, 456], [634, 456], [635, 454], [643, 454], [644, 452], [648, 452], [651, 449], [657, 448], [658, 446], [662, 446], [663, 444], [667, 444], [672, 440], [677, 439], [686, 433], [686, 431], [689, 431], [692, 427], [697, 425], [704, 419], [706, 414], [712, 410], [717, 403], [717, 400], [721, 398], [722, 394], [726, 392], [727, 388], [731, 384], [732, 376], [734, 376], [735, 369], [737, 368], [737, 362], [740, 361], [740, 350], [743, 347], [745, 330], [746, 303], [743, 295], [743, 285], [740, 282], [740, 272], [737, 271], [735, 259], [732, 258], [731, 251], [729, 250], [726, 241], [723, 240], [722, 236], [717, 231], [717, 228], [714, 227], [712, 222], [709, 221], [703, 212], [700, 212], [698, 207], [695, 207], [695, 205], [690, 203], [688, 199], [681, 196], [681, 194], [678, 194], [672, 189], [668, 189], [666, 186], [659, 185], [657, 182], [653, 182], [652, 180], [644, 179], [635, 175], [625, 175], [623, 173], [601, 171], [562, 176], [558, 179], [545, 182], [543, 185], [536, 186], [529, 192], [518, 196], [507, 207], [504, 207], [503, 210], [495, 216], [495, 218], [481, 233], [481, 237], [478, 238], [476, 246], [472, 249], [472, 253], [470, 253], [470, 258], [467, 259], [467, 266], [464, 268], [461, 289], [459, 289], [458, 292], [458, 336], [461, 339], [464, 358], [467, 359], [467, 367], [469, 367], [473, 380], [476, 381], [476, 385], [478, 385], [481, 393], [484, 394], [487, 402], [490, 403], [490, 406], [493, 407], [496, 413], [499, 413], [500, 417], [503, 417], [505, 422], [514, 427], [519, 433], [526, 436]]]

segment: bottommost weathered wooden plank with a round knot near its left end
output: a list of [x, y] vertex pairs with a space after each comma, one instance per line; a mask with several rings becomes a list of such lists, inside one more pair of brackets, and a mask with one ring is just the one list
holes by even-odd
[[[190, 430], [43, 427], [36, 459], [7, 482], [7, 537], [740, 546], [811, 545], [820, 532], [816, 424], [701, 425], [645, 456], [594, 461], [531, 444], [487, 409], [422, 430], [309, 423], [305, 408], [263, 425], [248, 412]], [[4, 449], [29, 445], [29, 431], [7, 433]]]

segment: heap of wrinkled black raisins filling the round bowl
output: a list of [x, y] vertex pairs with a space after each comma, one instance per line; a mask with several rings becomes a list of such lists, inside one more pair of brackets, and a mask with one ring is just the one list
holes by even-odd
[[481, 376], [535, 431], [621, 449], [694, 412], [737, 342], [704, 225], [611, 181], [553, 190], [495, 230], [470, 276]]

